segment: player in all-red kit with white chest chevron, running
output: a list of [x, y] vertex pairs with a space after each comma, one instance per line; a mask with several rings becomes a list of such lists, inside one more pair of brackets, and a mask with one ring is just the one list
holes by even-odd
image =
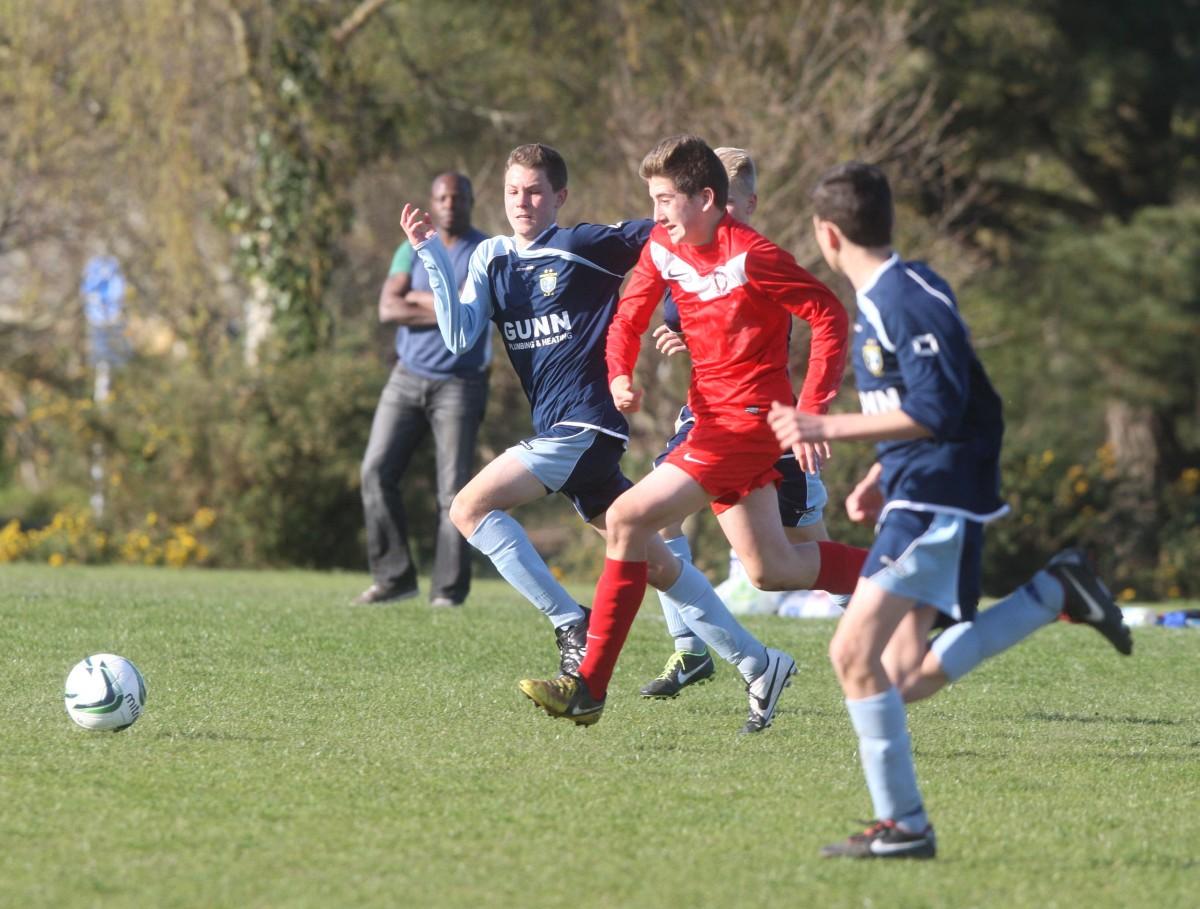
[[[577, 675], [527, 679], [522, 691], [553, 716], [594, 714], [647, 584], [647, 547], [660, 528], [710, 505], [725, 536], [762, 590], [821, 589], [850, 594], [865, 550], [841, 543], [792, 544], [775, 495], [779, 443], [767, 422], [772, 402], [792, 402], [787, 372], [791, 315], [812, 327], [809, 371], [798, 407], [823, 414], [846, 361], [847, 317], [824, 284], [792, 255], [725, 211], [728, 177], [720, 159], [691, 136], [659, 143], [642, 162], [655, 227], [608, 329], [607, 360], [618, 410], [637, 410], [632, 386], [641, 336], [671, 290], [692, 360], [688, 403], [696, 426], [668, 458], [612, 504], [605, 570], [596, 585], [588, 650]], [[797, 445], [805, 470], [828, 446]], [[749, 684], [750, 727], [770, 724], [796, 663], [768, 648]]]

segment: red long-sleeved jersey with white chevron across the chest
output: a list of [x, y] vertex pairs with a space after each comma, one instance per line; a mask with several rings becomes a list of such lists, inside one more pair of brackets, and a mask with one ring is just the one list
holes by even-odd
[[794, 399], [787, 372], [793, 314], [812, 329], [797, 407], [826, 413], [846, 366], [846, 309], [791, 253], [730, 215], [704, 246], [676, 246], [661, 224], [650, 231], [608, 327], [610, 383], [634, 374], [642, 335], [668, 288], [688, 338], [688, 403], [697, 421], [766, 417], [770, 402]]

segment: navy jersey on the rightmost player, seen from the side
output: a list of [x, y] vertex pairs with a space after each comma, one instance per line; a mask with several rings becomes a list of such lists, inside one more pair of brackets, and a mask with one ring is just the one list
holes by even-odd
[[1003, 514], [1000, 396], [949, 285], [893, 255], [858, 291], [853, 361], [863, 413], [902, 410], [934, 434], [877, 446], [886, 510]]

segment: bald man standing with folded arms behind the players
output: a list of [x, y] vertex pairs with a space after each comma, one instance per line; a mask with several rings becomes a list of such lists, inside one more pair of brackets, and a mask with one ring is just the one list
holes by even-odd
[[[433, 180], [430, 212], [462, 287], [467, 264], [487, 236], [472, 227], [470, 180], [445, 173]], [[408, 543], [401, 478], [426, 433], [437, 457], [438, 525], [430, 602], [461, 606], [470, 589], [470, 547], [450, 522], [450, 502], [474, 471], [475, 439], [487, 403], [491, 335], [462, 354], [442, 342], [433, 294], [407, 241], [396, 249], [379, 294], [379, 321], [396, 323], [396, 366], [379, 396], [362, 458], [362, 510], [372, 584], [354, 603], [371, 606], [416, 596], [416, 567]]]

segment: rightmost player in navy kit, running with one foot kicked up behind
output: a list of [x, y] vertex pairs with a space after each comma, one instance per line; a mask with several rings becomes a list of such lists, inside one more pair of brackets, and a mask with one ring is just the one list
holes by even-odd
[[[961, 679], [1060, 613], [1092, 625], [1121, 654], [1133, 642], [1109, 591], [1072, 549], [976, 614], [983, 525], [1007, 512], [1000, 397], [949, 287], [892, 251], [887, 177], [868, 164], [841, 164], [812, 199], [821, 252], [857, 291], [852, 359], [863, 413], [817, 416], [776, 402], [772, 427], [784, 447], [878, 443], [877, 463], [847, 499], [852, 517], [877, 522], [877, 536], [829, 645], [876, 820], [822, 855], [930, 859], [937, 843], [917, 788], [905, 702]], [[940, 615], [954, 624], [926, 648]]]

